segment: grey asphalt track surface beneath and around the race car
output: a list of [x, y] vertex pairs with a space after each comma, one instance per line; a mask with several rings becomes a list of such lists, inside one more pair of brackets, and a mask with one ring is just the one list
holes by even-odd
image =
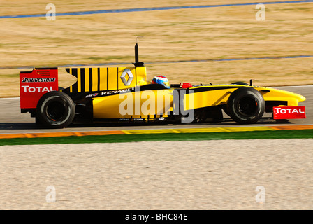
[[[297, 86], [297, 87], [277, 87], [282, 90], [296, 92], [306, 97], [305, 102], [301, 102], [299, 106], [306, 106], [307, 118], [289, 120], [289, 123], [283, 125], [312, 125], [313, 124], [313, 85]], [[226, 115], [225, 115], [226, 116]], [[267, 115], [265, 115], [267, 116]], [[270, 116], [270, 114], [268, 115]], [[227, 117], [227, 116], [226, 116]], [[191, 128], [191, 127], [224, 127], [236, 125], [235, 122], [224, 123], [187, 123], [179, 125], [162, 125], [162, 124], [101, 124], [101, 125], [71, 125], [61, 130], [50, 130], [38, 128], [35, 119], [31, 118], [29, 113], [20, 113], [20, 98], [3, 98], [0, 99], [0, 134], [10, 133], [29, 133], [29, 132], [79, 132], [79, 131], [103, 131], [103, 130], [143, 130], [143, 129], [164, 129], [164, 128]], [[259, 121], [254, 126], [277, 125], [274, 120]], [[251, 126], [251, 125], [250, 125]]]

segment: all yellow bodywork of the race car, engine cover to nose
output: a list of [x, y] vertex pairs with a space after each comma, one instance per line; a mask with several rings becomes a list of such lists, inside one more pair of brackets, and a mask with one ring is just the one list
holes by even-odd
[[[160, 118], [167, 117], [170, 111], [175, 110], [174, 88], [138, 90], [139, 87], [150, 84], [146, 80], [145, 67], [68, 68], [66, 71], [77, 77], [77, 82], [68, 87], [69, 93], [97, 92], [96, 97], [92, 98], [93, 118]], [[180, 102], [184, 104], [184, 111], [226, 105], [231, 93], [239, 87], [247, 86], [190, 87], [189, 91], [180, 92]], [[286, 102], [286, 106], [298, 106], [299, 102], [305, 101], [305, 97], [293, 92], [252, 87], [261, 92], [265, 102]], [[135, 88], [136, 91], [133, 91]]]

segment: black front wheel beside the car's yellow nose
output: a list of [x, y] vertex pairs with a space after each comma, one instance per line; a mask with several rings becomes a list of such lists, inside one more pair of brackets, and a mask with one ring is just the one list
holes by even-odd
[[265, 101], [262, 94], [252, 87], [240, 87], [228, 99], [229, 116], [239, 124], [253, 124], [262, 118]]

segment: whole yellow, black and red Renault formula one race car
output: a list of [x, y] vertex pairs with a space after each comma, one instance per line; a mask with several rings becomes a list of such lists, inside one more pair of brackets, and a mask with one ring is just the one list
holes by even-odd
[[138, 61], [135, 46], [133, 67], [67, 68], [77, 82], [66, 89], [58, 85], [57, 68], [35, 68], [20, 73], [21, 112], [36, 123], [63, 128], [71, 123], [221, 122], [223, 111], [239, 124], [258, 122], [264, 113], [272, 119], [305, 118], [300, 94], [250, 81], [228, 85], [169, 85], [164, 76], [148, 82], [146, 68]]

